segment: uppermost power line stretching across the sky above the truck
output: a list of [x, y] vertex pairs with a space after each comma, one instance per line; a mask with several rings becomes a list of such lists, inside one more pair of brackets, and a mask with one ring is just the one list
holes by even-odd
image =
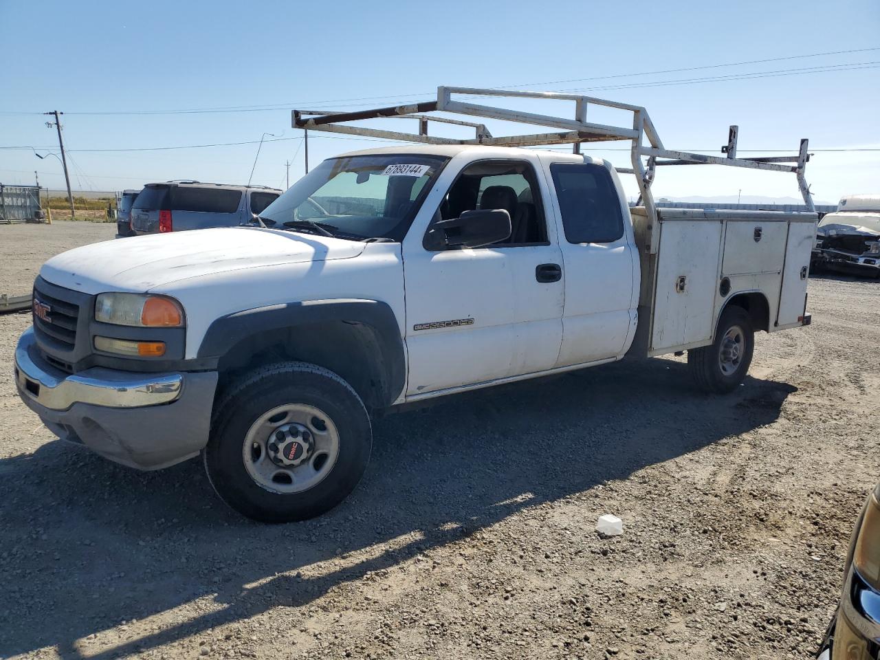
[[[517, 83], [517, 84], [506, 84], [506, 85], [496, 85], [494, 87], [489, 87], [488, 89], [503, 89], [510, 87], [533, 87], [540, 84], [561, 84], [561, 83], [576, 83], [576, 82], [585, 82], [590, 80], [605, 80], [611, 78], [620, 78], [620, 77], [637, 77], [637, 76], [654, 76], [661, 73], [677, 73], [683, 71], [694, 71], [694, 70], [708, 70], [708, 69], [721, 69], [724, 67], [734, 67], [734, 66], [744, 66], [746, 64], [758, 64], [758, 63], [766, 63], [766, 62], [781, 62], [786, 60], [796, 60], [803, 59], [809, 57], [822, 57], [827, 55], [848, 55], [853, 53], [865, 53], [869, 51], [880, 50], [880, 47], [876, 48], [851, 48], [848, 50], [833, 50], [833, 51], [825, 51], [823, 53], [808, 53], [805, 55], [784, 55], [781, 57], [769, 57], [760, 60], [745, 60], [743, 62], [727, 62], [727, 63], [719, 63], [719, 64], [705, 64], [697, 67], [683, 67], [679, 69], [666, 69], [666, 70], [654, 70], [654, 71], [640, 71], [635, 73], [620, 73], [620, 74], [612, 74], [607, 76], [597, 76], [597, 77], [587, 77], [587, 78], [568, 78], [564, 80], [553, 80], [553, 81], [543, 81], [539, 83]], [[846, 64], [840, 65], [831, 65], [838, 67], [845, 67]], [[818, 69], [818, 68], [817, 68]], [[830, 70], [830, 69], [829, 69]], [[840, 69], [846, 70], [846, 69]], [[754, 74], [766, 73], [755, 71], [752, 72]], [[756, 76], [759, 77], [759, 76]], [[709, 79], [701, 82], [709, 82]], [[672, 84], [670, 81], [668, 84]], [[682, 84], [691, 84], [691, 81]], [[650, 83], [643, 84], [645, 86], [649, 86]], [[613, 87], [609, 87], [608, 89], [614, 89]], [[114, 114], [138, 114], [138, 115], [149, 115], [149, 114], [209, 114], [209, 113], [249, 113], [249, 112], [272, 112], [277, 110], [283, 110], [294, 106], [326, 106], [329, 103], [346, 103], [348, 101], [363, 101], [363, 100], [378, 100], [378, 99], [402, 99], [409, 97], [418, 97], [418, 96], [430, 96], [436, 92], [419, 92], [419, 93], [407, 93], [407, 94], [388, 94], [385, 96], [363, 96], [363, 97], [354, 97], [348, 99], [324, 99], [324, 100], [315, 100], [315, 101], [289, 101], [285, 103], [274, 103], [274, 104], [266, 104], [262, 106], [216, 106], [216, 107], [202, 107], [202, 108], [181, 108], [181, 109], [171, 109], [171, 110], [117, 110], [117, 111], [81, 111], [81, 112], [69, 112], [67, 114], [83, 114], [83, 115], [114, 115]], [[364, 105], [373, 105], [373, 104], [355, 104], [357, 106]], [[0, 111], [0, 114], [40, 114], [26, 111]]]

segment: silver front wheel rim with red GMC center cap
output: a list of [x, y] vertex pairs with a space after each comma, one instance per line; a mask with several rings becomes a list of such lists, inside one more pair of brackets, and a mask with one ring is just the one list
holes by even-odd
[[317, 407], [274, 407], [251, 424], [241, 458], [260, 488], [281, 495], [302, 493], [333, 470], [339, 458], [339, 431]]

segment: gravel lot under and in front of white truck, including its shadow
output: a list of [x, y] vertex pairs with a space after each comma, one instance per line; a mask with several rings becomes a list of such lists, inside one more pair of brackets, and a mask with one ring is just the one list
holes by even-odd
[[759, 335], [729, 397], [658, 359], [386, 417], [356, 493], [277, 526], [198, 461], [53, 441], [9, 375], [29, 319], [0, 316], [0, 656], [810, 656], [880, 474], [878, 305], [811, 282], [814, 325]]

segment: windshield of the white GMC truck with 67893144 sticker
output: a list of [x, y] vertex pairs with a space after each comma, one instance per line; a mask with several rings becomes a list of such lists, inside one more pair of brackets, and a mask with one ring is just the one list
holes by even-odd
[[[270, 226], [400, 241], [448, 158], [404, 154], [325, 160], [260, 213]], [[274, 223], [274, 224], [273, 224]]]

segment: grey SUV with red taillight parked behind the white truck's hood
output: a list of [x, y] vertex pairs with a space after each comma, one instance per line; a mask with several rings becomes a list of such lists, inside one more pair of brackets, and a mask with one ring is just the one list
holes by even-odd
[[148, 183], [131, 210], [136, 235], [237, 227], [252, 221], [282, 193], [265, 186], [227, 186], [200, 181]]

